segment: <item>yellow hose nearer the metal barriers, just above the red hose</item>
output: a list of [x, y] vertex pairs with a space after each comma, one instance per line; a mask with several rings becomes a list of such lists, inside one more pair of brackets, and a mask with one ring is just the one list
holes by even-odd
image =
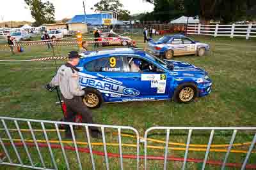
[[[10, 139], [2, 139], [3, 141], [10, 141]], [[22, 141], [21, 139], [13, 139], [13, 141]], [[33, 140], [31, 139], [25, 139], [25, 142], [28, 143], [34, 143]], [[38, 143], [47, 143], [47, 141], [45, 140], [36, 140], [36, 142]], [[49, 140], [49, 143], [60, 143], [60, 141], [56, 141], [56, 140]], [[61, 143], [66, 143], [66, 144], [72, 144], [73, 141], [62, 141]], [[81, 141], [77, 141], [76, 142], [78, 145], [88, 145], [87, 142], [81, 142]], [[102, 146], [104, 145], [103, 143], [92, 143], [92, 145], [94, 146]], [[106, 143], [107, 146], [119, 146], [118, 143]], [[137, 147], [135, 144], [127, 144], [127, 143], [122, 143], [122, 146], [127, 146], [127, 147]], [[152, 145], [148, 145], [147, 148], [152, 148], [152, 149], [165, 149], [164, 146], [152, 146]], [[185, 151], [186, 148], [174, 148], [174, 147], [168, 147], [169, 150], [179, 150], [179, 151]], [[189, 151], [195, 151], [195, 152], [205, 152], [206, 148], [189, 148]], [[227, 152], [226, 149], [210, 149], [210, 152]], [[247, 153], [246, 150], [230, 150], [231, 153]], [[256, 152], [252, 152], [252, 153], [256, 153]]]

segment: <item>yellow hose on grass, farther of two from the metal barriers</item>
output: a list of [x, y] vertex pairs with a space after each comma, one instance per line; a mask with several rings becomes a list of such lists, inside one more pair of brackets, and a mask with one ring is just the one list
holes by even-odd
[[[9, 131], [18, 131], [17, 129], [8, 129]], [[0, 129], [0, 131], [4, 131], [4, 129]], [[30, 129], [20, 129], [21, 132], [30, 132]], [[46, 132], [56, 132], [56, 129], [46, 129]], [[60, 132], [65, 132], [65, 130], [60, 129]], [[42, 129], [33, 129], [33, 132], [44, 132]], [[113, 134], [118, 135], [117, 132], [113, 132]], [[121, 136], [124, 137], [129, 137], [129, 138], [137, 138], [134, 135], [131, 134], [121, 134]], [[143, 139], [142, 137], [140, 137], [140, 139]], [[163, 140], [159, 140], [159, 139], [152, 139], [152, 138], [147, 138], [147, 141], [152, 141], [155, 143], [166, 143]], [[169, 145], [175, 145], [175, 146], [186, 146], [186, 143], [174, 143], [174, 142], [169, 142]], [[245, 145], [251, 145], [250, 142], [246, 142], [246, 143], [234, 143], [232, 146], [245, 146]], [[198, 147], [198, 148], [207, 148], [207, 145], [199, 145], [199, 144], [189, 144], [189, 146], [192, 147]], [[225, 148], [228, 147], [228, 144], [219, 144], [219, 145], [211, 145], [211, 148]]]

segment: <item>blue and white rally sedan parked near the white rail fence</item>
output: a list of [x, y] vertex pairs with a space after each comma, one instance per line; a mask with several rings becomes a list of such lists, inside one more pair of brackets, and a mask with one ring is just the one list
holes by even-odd
[[156, 42], [152, 40], [148, 42], [148, 52], [158, 57], [163, 56], [165, 59], [172, 59], [177, 55], [203, 56], [209, 50], [209, 45], [194, 41], [182, 34], [163, 36]]

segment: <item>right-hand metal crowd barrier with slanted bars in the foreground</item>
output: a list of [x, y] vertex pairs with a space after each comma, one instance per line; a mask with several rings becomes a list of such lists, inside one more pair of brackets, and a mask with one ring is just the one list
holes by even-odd
[[[228, 155], [230, 154], [230, 150], [232, 148], [232, 145], [234, 143], [234, 140], [236, 138], [236, 134], [237, 131], [255, 131], [255, 135], [253, 137], [252, 143], [250, 144], [250, 147], [248, 149], [248, 152], [246, 153], [246, 157], [243, 161], [243, 164], [241, 166], [241, 170], [244, 170], [246, 167], [246, 164], [248, 162], [248, 159], [250, 158], [250, 155], [252, 153], [253, 147], [255, 146], [256, 143], [256, 127], [151, 127], [149, 129], [147, 129], [147, 131], [145, 132], [145, 136], [144, 136], [144, 164], [145, 164], [145, 169], [147, 169], [147, 138], [148, 138], [148, 133], [151, 131], [166, 131], [166, 141], [165, 141], [165, 149], [164, 149], [164, 170], [167, 169], [167, 158], [168, 158], [168, 145], [169, 145], [169, 139], [170, 136], [172, 137], [172, 135], [170, 135], [170, 131], [180, 131], [180, 130], [185, 130], [188, 131], [188, 138], [187, 138], [187, 142], [186, 142], [186, 151], [185, 151], [185, 155], [184, 155], [184, 161], [183, 161], [183, 165], [182, 165], [182, 170], [186, 169], [186, 162], [188, 159], [188, 152], [189, 152], [189, 144], [191, 141], [191, 135], [193, 131], [211, 131], [211, 134], [209, 136], [209, 141], [207, 144], [207, 148], [206, 148], [206, 152], [205, 152], [205, 156], [204, 156], [204, 162], [202, 165], [202, 170], [205, 169], [205, 165], [207, 163], [207, 159], [209, 156], [209, 152], [210, 152], [210, 148], [212, 145], [212, 139], [214, 137], [214, 131], [220, 130], [220, 131], [232, 131], [232, 138], [230, 139], [230, 143], [228, 145], [228, 149], [227, 149], [227, 153], [225, 154], [225, 158], [223, 159], [223, 163], [221, 166], [221, 170], [225, 169], [225, 165], [227, 163], [227, 159], [228, 159]], [[256, 162], [256, 161], [255, 161]]]

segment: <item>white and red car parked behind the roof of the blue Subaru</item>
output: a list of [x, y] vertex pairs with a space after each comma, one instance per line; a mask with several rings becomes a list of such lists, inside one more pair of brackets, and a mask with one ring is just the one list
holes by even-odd
[[102, 32], [100, 33], [99, 41], [106, 41], [102, 43], [102, 46], [108, 45], [132, 45], [132, 39], [125, 36], [120, 36], [115, 32]]

